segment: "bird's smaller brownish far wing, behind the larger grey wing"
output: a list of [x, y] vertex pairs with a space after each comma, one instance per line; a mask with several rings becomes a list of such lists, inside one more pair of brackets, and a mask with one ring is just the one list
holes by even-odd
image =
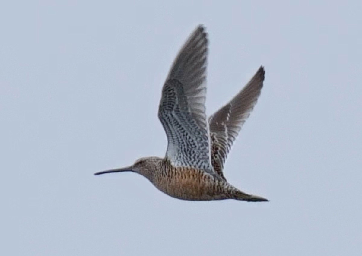
[[264, 74], [264, 68], [260, 67], [243, 90], [209, 117], [211, 163], [214, 171], [224, 180], [223, 167], [227, 154], [257, 102]]

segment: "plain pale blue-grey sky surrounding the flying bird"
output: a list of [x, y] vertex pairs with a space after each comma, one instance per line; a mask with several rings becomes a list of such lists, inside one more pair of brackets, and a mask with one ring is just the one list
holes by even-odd
[[[1, 8], [0, 254], [360, 255], [361, 1], [150, 2]], [[208, 114], [265, 66], [225, 175], [268, 203], [93, 176], [164, 155], [161, 88], [200, 23]]]

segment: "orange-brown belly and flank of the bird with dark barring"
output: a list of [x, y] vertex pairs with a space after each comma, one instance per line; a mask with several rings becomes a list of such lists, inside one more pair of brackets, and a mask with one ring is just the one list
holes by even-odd
[[225, 182], [200, 170], [174, 169], [159, 173], [155, 186], [169, 196], [184, 200], [227, 199]]

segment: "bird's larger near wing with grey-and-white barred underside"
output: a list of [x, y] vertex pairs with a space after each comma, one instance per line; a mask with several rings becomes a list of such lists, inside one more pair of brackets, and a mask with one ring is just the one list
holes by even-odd
[[198, 26], [181, 48], [163, 86], [158, 116], [171, 164], [214, 173], [205, 114], [206, 37], [204, 27]]

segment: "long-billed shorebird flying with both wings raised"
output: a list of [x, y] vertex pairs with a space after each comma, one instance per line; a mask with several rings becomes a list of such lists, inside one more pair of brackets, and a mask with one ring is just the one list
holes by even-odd
[[160, 191], [183, 200], [268, 201], [226, 181], [224, 162], [249, 117], [264, 81], [261, 66], [247, 85], [208, 119], [205, 114], [207, 34], [199, 25], [186, 40], [162, 89], [158, 117], [167, 135], [164, 158], [144, 157], [134, 165], [108, 171], [132, 171]]

